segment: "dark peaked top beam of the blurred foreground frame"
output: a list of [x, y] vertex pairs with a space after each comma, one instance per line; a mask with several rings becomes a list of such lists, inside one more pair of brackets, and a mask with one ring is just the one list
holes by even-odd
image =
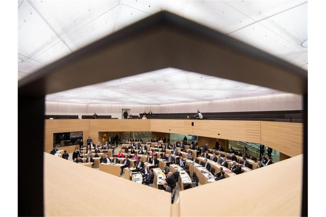
[[[47, 66], [45, 66], [44, 68], [38, 70], [35, 73], [32, 73], [31, 75], [21, 79], [18, 82], [18, 87], [19, 87], [19, 94], [20, 95], [24, 95], [25, 92], [30, 91], [31, 89], [35, 88], [34, 92], [31, 92], [31, 95], [45, 95], [48, 94], [49, 92], [47, 92], [47, 86], [49, 84], [51, 84], [51, 81], [47, 81], [46, 79], [50, 77], [53, 80], [53, 77], [55, 77], [55, 75], [57, 75], [58, 77], [56, 78], [56, 92], [60, 92], [66, 89], [70, 89], [70, 88], [78, 88], [78, 87], [82, 87], [82, 86], [86, 86], [86, 85], [91, 85], [91, 84], [95, 84], [98, 82], [104, 82], [103, 80], [97, 79], [96, 81], [92, 82], [92, 79], [86, 79], [87, 81], [84, 81], [84, 83], [82, 82], [78, 82], [78, 80], [82, 80], [82, 76], [78, 76], [78, 70], [76, 68], [73, 68], [76, 72], [73, 72], [74, 70], [69, 70], [68, 73], [64, 74], [65, 77], [71, 76], [71, 75], [76, 75], [76, 80], [73, 82], [74, 86], [71, 87], [67, 87], [67, 85], [61, 85], [61, 82], [65, 81], [65, 77], [58, 74], [58, 71], [62, 70], [63, 68], [67, 68], [69, 65], [76, 65], [78, 66], [78, 63], [86, 63], [86, 61], [91, 60], [92, 56], [96, 56], [96, 55], [103, 55], [103, 53], [108, 52], [108, 50], [110, 50], [110, 52], [115, 52], [115, 53], [119, 53], [119, 49], [121, 46], [125, 45], [128, 41], [137, 41], [137, 40], [141, 40], [142, 37], [145, 36], [153, 36], [155, 37], [155, 33], [156, 34], [161, 34], [162, 32], [158, 31], [158, 30], [167, 30], [165, 33], [167, 35], [170, 34], [170, 38], [167, 37], [166, 40], [164, 40], [165, 45], [163, 45], [162, 41], [156, 42], [157, 47], [154, 45], [151, 45], [151, 49], [153, 51], [152, 55], [147, 55], [148, 57], [148, 61], [151, 60], [151, 58], [154, 58], [154, 54], [157, 54], [158, 57], [161, 58], [162, 61], [157, 61], [154, 63], [148, 63], [149, 66], [144, 66], [142, 63], [137, 63], [135, 65], [133, 65], [135, 69], [134, 72], [128, 72], [130, 73], [129, 75], [136, 75], [136, 74], [140, 74], [140, 73], [144, 73], [146, 72], [145, 69], [150, 70], [150, 69], [161, 69], [161, 68], [167, 68], [167, 67], [175, 67], [175, 68], [180, 68], [180, 69], [184, 69], [187, 71], [194, 71], [197, 72], [198, 68], [203, 67], [202, 65], [200, 65], [200, 60], [199, 63], [197, 63], [196, 66], [191, 65], [189, 62], [181, 62], [178, 61], [178, 57], [174, 58], [169, 58], [169, 56], [173, 57], [173, 55], [175, 53], [178, 52], [182, 52], [181, 48], [182, 46], [186, 46], [181, 44], [182, 41], [175, 41], [176, 36], [180, 36], [179, 39], [182, 38], [188, 38], [189, 40], [193, 40], [193, 41], [197, 41], [198, 42], [198, 46], [197, 48], [199, 48], [200, 44], [210, 44], [210, 45], [215, 45], [216, 50], [220, 49], [226, 49], [228, 51], [230, 51], [230, 54], [234, 54], [234, 57], [238, 56], [238, 57], [242, 57], [241, 61], [244, 61], [245, 58], [249, 58], [251, 60], [253, 60], [253, 62], [256, 62], [256, 66], [259, 65], [259, 67], [265, 67], [265, 68], [269, 68], [269, 72], [271, 70], [271, 68], [275, 68], [275, 71], [279, 71], [278, 75], [284, 75], [285, 77], [287, 77], [288, 80], [288, 86], [292, 85], [292, 93], [296, 93], [296, 94], [303, 94], [306, 92], [306, 84], [307, 84], [307, 72], [297, 66], [294, 66], [286, 61], [283, 61], [273, 55], [267, 54], [264, 51], [261, 51], [257, 48], [254, 48], [252, 46], [249, 46], [243, 42], [240, 42], [234, 38], [231, 38], [227, 35], [221, 34], [215, 30], [212, 30], [210, 28], [204, 27], [198, 23], [195, 23], [193, 21], [190, 20], [186, 20], [185, 18], [179, 17], [177, 15], [171, 14], [169, 12], [163, 11], [163, 12], [159, 12], [153, 16], [150, 16], [144, 20], [141, 20], [137, 23], [134, 23], [116, 33], [113, 33], [111, 35], [108, 35], [86, 47], [83, 47], [80, 50], [75, 51], [74, 53], [58, 60], [55, 61]], [[163, 31], [164, 32], [164, 31]], [[157, 36], [157, 35], [156, 35]], [[162, 35], [161, 35], [162, 37]], [[155, 38], [152, 38], [153, 40]], [[180, 43], [177, 43], [180, 42]], [[173, 43], [177, 43], [177, 45], [179, 45], [179, 47], [177, 46], [171, 46], [168, 47], [169, 44], [173, 44]], [[139, 51], [139, 48], [142, 45], [134, 45], [138, 50], [138, 53], [142, 55], [142, 57], [146, 57], [146, 51], [145, 48], [146, 44], [143, 44], [144, 47], [142, 47], [143, 49], [141, 49], [141, 51]], [[165, 50], [164, 50], [165, 47]], [[188, 45], [189, 49], [196, 49], [196, 47], [190, 47], [190, 45]], [[163, 52], [162, 52], [163, 49]], [[117, 52], [116, 52], [117, 51]], [[126, 50], [126, 54], [128, 50]], [[177, 51], [177, 52], [176, 52]], [[214, 53], [214, 49], [213, 49], [213, 53]], [[205, 53], [203, 53], [205, 54]], [[221, 55], [221, 54], [220, 54]], [[122, 58], [122, 56], [124, 56], [124, 53], [120, 54], [120, 58]], [[126, 55], [127, 57], [128, 55]], [[191, 57], [193, 56], [192, 59], [194, 59], [194, 56], [196, 57], [196, 53], [189, 53], [189, 52], [184, 52], [183, 55], [179, 55], [180, 58], [185, 59], [189, 59], [191, 60]], [[201, 57], [201, 56], [200, 56]], [[103, 58], [103, 56], [102, 56]], [[129, 54], [129, 59], [132, 60], [132, 55]], [[177, 58], [177, 60], [176, 60]], [[205, 58], [204, 56], [202, 57], [203, 59]], [[147, 61], [147, 58], [144, 58], [146, 60], [143, 61]], [[155, 58], [154, 58], [155, 59]], [[93, 62], [95, 60], [92, 60]], [[235, 62], [237, 62], [237, 60], [234, 60]], [[76, 64], [77, 63], [77, 64]], [[191, 61], [192, 64], [193, 61]], [[104, 64], [104, 63], [103, 63]], [[152, 64], [152, 65], [150, 65]], [[105, 65], [105, 64], [104, 64]], [[191, 66], [189, 66], [191, 65]], [[230, 67], [232, 66], [232, 64], [230, 65]], [[104, 67], [103, 65], [101, 67]], [[254, 67], [254, 66], [253, 66]], [[122, 67], [123, 68], [123, 67]], [[196, 68], [196, 70], [191, 70], [191, 68]], [[208, 66], [206, 66], [206, 71], [207, 68], [209, 68]], [[142, 71], [142, 69], [144, 69]], [[138, 71], [137, 71], [138, 70]], [[103, 71], [103, 69], [102, 69]], [[105, 71], [105, 70], [104, 70]], [[223, 70], [222, 70], [223, 71]], [[262, 74], [264, 73], [263, 70]], [[269, 73], [268, 72], [268, 73]], [[91, 76], [93, 72], [88, 72], [88, 76]], [[104, 73], [104, 72], [102, 72]], [[203, 74], [207, 74], [204, 71], [203, 72], [199, 72], [199, 73], [203, 73]], [[224, 74], [223, 74], [224, 73]], [[234, 72], [233, 72], [234, 73]], [[226, 72], [222, 72], [222, 78], [228, 78], [228, 79], [233, 79], [233, 80], [237, 80], [239, 82], [245, 82], [248, 83], [249, 78], [252, 78], [252, 73], [250, 74], [250, 70], [248, 70], [247, 72], [239, 72], [239, 77], [242, 77], [241, 79], [237, 77], [237, 75], [232, 75], [232, 76], [227, 76]], [[211, 73], [208, 73], [211, 74]], [[232, 74], [232, 73], [231, 73]], [[265, 73], [266, 74], [266, 73]], [[287, 74], [287, 75], [286, 75]], [[94, 75], [94, 73], [93, 73]], [[99, 73], [99, 75], [101, 75]], [[129, 76], [128, 75], [128, 76]], [[245, 76], [248, 75], [248, 76]], [[122, 75], [123, 76], [123, 75]], [[262, 75], [259, 75], [260, 79], [263, 79]], [[270, 75], [269, 75], [270, 76]], [[124, 76], [123, 76], [124, 77]], [[102, 78], [102, 77], [101, 77]], [[120, 77], [115, 77], [114, 79], [117, 79]], [[244, 78], [246, 78], [246, 80], [244, 81]], [[297, 82], [294, 82], [295, 84], [291, 83], [291, 79], [290, 78], [296, 78]], [[257, 77], [256, 79], [257, 80]], [[283, 81], [286, 82], [286, 81]], [[34, 85], [32, 85], [34, 83]], [[81, 85], [79, 85], [81, 83]], [[258, 82], [259, 83], [259, 82]], [[257, 82], [255, 83], [256, 85], [259, 85]], [[266, 84], [266, 81], [263, 82], [264, 84]], [[273, 83], [273, 82], [271, 82]], [[284, 83], [285, 84], [285, 83]], [[283, 85], [284, 88], [287, 88], [287, 85]], [[69, 83], [68, 83], [69, 85]], [[277, 82], [274, 81], [274, 84], [272, 85], [277, 85]], [[262, 85], [263, 87], [265, 87], [266, 85]], [[28, 88], [27, 88], [28, 87]], [[289, 88], [288, 88], [289, 89]]]

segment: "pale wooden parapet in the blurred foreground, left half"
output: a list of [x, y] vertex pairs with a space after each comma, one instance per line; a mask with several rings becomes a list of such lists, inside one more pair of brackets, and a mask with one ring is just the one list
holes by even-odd
[[170, 216], [170, 207], [170, 193], [44, 153], [45, 216]]

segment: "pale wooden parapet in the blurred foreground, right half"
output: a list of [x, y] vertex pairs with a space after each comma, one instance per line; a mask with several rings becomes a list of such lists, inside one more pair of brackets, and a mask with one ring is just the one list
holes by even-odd
[[[295, 156], [180, 191], [180, 216], [300, 216], [302, 160], [303, 155]], [[190, 209], [198, 196], [205, 208]]]

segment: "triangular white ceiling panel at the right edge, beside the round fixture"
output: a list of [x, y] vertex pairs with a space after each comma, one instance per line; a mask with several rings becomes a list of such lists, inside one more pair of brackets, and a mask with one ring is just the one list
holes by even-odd
[[307, 11], [308, 4], [303, 4], [291, 10], [259, 21], [262, 25], [282, 36], [303, 51], [308, 48], [301, 44], [308, 39]]

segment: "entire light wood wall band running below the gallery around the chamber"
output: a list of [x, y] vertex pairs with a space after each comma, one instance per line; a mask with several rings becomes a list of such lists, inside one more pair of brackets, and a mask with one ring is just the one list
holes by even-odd
[[[191, 122], [194, 122], [194, 126], [191, 126]], [[233, 120], [71, 119], [45, 120], [45, 152], [49, 153], [53, 148], [53, 133], [74, 131], [83, 131], [84, 142], [88, 136], [91, 136], [94, 143], [98, 142], [98, 132], [152, 131], [166, 133], [166, 135], [181, 133], [214, 139], [257, 142], [291, 157], [302, 154], [303, 148], [302, 123]], [[69, 148], [71, 147], [67, 147], [68, 152]]]

